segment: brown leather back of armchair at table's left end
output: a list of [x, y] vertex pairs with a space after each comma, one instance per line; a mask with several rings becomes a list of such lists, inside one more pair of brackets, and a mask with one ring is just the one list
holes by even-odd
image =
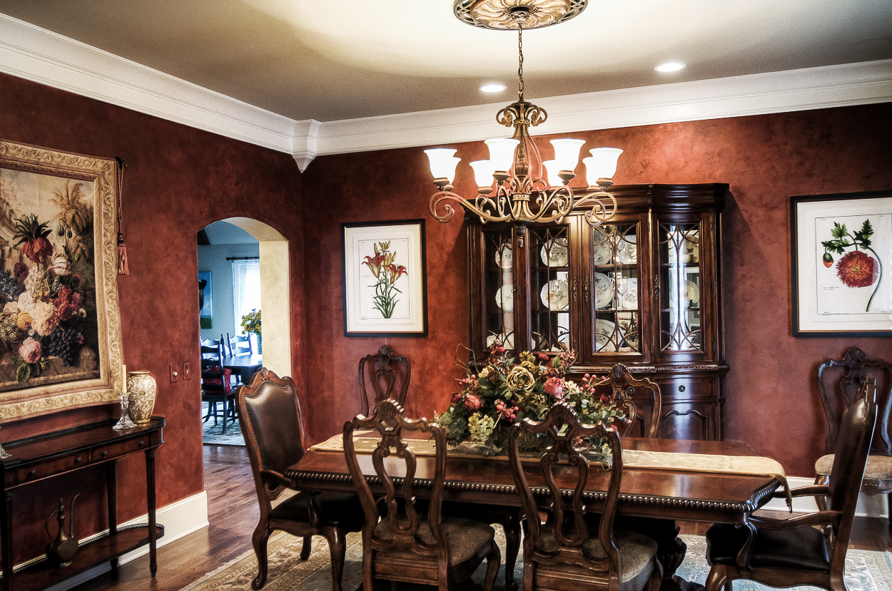
[[239, 389], [236, 408], [257, 495], [261, 502], [276, 499], [289, 482], [285, 470], [304, 453], [297, 388], [290, 377], [261, 367]]

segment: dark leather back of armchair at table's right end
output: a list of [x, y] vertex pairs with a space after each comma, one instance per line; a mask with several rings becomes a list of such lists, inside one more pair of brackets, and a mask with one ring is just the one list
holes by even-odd
[[[876, 382], [868, 377], [865, 378], [855, 402], [848, 407], [839, 423], [836, 456], [833, 458], [833, 470], [828, 482], [828, 508], [841, 513], [840, 523], [834, 532], [835, 547], [838, 548], [845, 549], [848, 546], [876, 422]], [[845, 551], [841, 554], [844, 559]]]

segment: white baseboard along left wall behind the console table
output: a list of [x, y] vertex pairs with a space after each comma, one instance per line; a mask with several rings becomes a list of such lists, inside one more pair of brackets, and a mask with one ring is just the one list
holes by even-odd
[[[121, 523], [120, 525], [132, 525], [134, 523], [145, 523], [146, 521], [148, 521], [148, 513], [140, 515], [139, 517], [136, 517], [136, 519], [131, 519], [126, 523]], [[155, 521], [164, 526], [164, 537], [158, 540], [158, 547], [167, 546], [170, 542], [183, 538], [199, 529], [208, 527], [207, 492], [202, 490], [202, 492], [197, 495], [186, 497], [176, 503], [161, 507], [155, 514]], [[98, 538], [106, 531], [108, 531], [108, 529], [81, 540], [81, 542], [87, 542], [91, 539]], [[133, 552], [124, 554], [120, 557], [118, 562], [119, 564], [124, 564], [136, 560], [136, 558], [144, 556], [145, 554], [149, 554], [149, 546], [142, 546]], [[29, 562], [34, 562], [34, 560]], [[67, 591], [68, 589], [77, 587], [84, 581], [98, 577], [109, 570], [111, 570], [111, 563], [105, 562], [96, 565], [92, 569], [85, 570], [71, 579], [64, 580], [53, 587], [47, 587], [46, 591]], [[146, 575], [148, 575], [148, 573], [146, 573]]]

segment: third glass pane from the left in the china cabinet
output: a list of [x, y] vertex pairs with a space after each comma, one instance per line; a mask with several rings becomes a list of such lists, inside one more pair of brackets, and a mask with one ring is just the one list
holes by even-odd
[[604, 355], [641, 355], [640, 268], [642, 243], [648, 242], [641, 222], [582, 226], [589, 234], [588, 268], [582, 274], [584, 355], [596, 363]]

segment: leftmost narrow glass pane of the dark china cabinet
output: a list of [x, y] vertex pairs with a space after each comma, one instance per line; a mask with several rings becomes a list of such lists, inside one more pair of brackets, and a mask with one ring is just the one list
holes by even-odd
[[485, 346], [501, 341], [507, 349], [514, 349], [515, 251], [511, 230], [483, 231], [483, 332]]

